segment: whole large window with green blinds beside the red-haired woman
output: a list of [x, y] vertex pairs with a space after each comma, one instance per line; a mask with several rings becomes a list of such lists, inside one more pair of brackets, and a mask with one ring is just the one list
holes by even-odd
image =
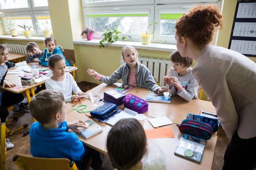
[[[189, 2], [189, 4], [187, 4]], [[158, 24], [152, 42], [175, 44], [175, 23], [196, 4], [215, 4], [219, 0], [82, 0], [84, 27], [93, 28], [95, 39], [101, 39], [102, 31], [116, 28], [122, 36], [132, 37], [129, 41], [140, 41], [140, 33], [152, 32], [148, 24]]]

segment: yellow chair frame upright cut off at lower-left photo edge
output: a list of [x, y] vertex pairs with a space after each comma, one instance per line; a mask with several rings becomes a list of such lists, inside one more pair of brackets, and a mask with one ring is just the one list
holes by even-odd
[[5, 170], [5, 123], [0, 123], [0, 169]]

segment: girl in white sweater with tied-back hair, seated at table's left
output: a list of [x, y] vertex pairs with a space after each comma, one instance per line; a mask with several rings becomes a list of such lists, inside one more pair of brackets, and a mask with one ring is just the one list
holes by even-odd
[[[53, 72], [53, 76], [46, 80], [46, 89], [54, 89], [62, 92], [65, 102], [77, 101], [85, 93], [77, 86], [72, 75], [66, 72], [66, 63], [62, 56], [55, 54], [48, 60], [48, 66]], [[72, 91], [76, 95], [72, 95]]]

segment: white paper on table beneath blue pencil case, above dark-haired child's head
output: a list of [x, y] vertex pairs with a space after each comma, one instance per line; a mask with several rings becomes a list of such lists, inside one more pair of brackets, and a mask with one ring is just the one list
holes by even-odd
[[108, 119], [108, 121], [106, 121], [106, 123], [108, 123], [110, 125], [114, 125], [120, 119], [123, 119], [123, 118], [134, 118], [134, 116], [137, 115], [137, 114], [138, 113], [136, 111], [124, 108], [123, 111], [121, 111], [118, 114], [115, 114], [113, 117]]

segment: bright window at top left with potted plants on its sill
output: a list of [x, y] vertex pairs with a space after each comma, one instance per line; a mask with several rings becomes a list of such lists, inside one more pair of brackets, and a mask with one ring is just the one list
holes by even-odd
[[[52, 29], [47, 0], [0, 0], [3, 19], [12, 19], [18, 35], [24, 35], [24, 29], [18, 25], [31, 27], [32, 36], [43, 36], [43, 30]], [[5, 29], [10, 35], [9, 30]]]

